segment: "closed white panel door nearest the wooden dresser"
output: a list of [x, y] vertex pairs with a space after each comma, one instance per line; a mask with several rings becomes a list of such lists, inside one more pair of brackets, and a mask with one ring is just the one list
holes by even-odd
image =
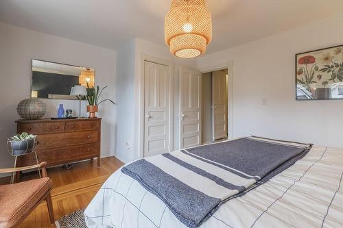
[[169, 152], [169, 67], [145, 61], [144, 157]]

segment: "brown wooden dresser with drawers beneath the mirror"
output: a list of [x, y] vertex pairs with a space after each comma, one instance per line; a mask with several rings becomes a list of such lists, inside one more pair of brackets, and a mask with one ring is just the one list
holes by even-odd
[[[16, 131], [37, 135], [38, 161], [48, 167], [94, 157], [100, 166], [101, 118], [19, 120]], [[32, 164], [36, 164], [34, 153], [18, 157], [18, 166]]]

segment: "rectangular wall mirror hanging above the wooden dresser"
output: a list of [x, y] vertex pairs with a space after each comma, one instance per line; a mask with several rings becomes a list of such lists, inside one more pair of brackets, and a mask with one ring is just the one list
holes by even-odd
[[76, 99], [70, 96], [73, 86], [94, 86], [93, 68], [32, 60], [31, 97]]

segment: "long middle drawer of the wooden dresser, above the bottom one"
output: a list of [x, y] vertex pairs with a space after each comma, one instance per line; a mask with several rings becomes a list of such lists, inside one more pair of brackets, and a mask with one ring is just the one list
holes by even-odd
[[78, 144], [99, 142], [98, 131], [78, 131], [37, 136], [38, 149], [69, 147]]

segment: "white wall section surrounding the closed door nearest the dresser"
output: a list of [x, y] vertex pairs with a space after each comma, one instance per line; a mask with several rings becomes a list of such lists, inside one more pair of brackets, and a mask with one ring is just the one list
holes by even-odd
[[[133, 51], [134, 50], [134, 51]], [[134, 52], [134, 53], [133, 53]], [[140, 86], [142, 75], [142, 56], [150, 55], [154, 58], [174, 63], [174, 148], [178, 148], [178, 87], [179, 68], [187, 66], [196, 68], [196, 60], [182, 60], [169, 53], [166, 46], [155, 45], [139, 38], [130, 40], [117, 53], [117, 144], [115, 155], [123, 162], [130, 162], [139, 157], [139, 116], [141, 105]], [[134, 66], [132, 66], [132, 63]], [[132, 88], [134, 86], [134, 88]], [[132, 115], [134, 116], [132, 118]], [[126, 147], [129, 142], [130, 149]]]

